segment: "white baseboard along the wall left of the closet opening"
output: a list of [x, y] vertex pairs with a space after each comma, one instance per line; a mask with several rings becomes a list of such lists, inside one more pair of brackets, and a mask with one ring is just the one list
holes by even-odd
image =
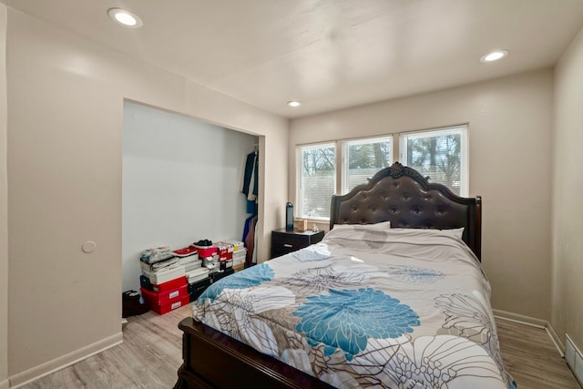
[[[101, 353], [108, 348], [118, 345], [123, 342], [123, 334], [116, 333], [115, 335], [109, 336], [102, 339], [96, 343], [87, 345], [86, 347], [80, 348], [73, 353], [67, 353], [63, 356], [59, 356], [52, 361], [39, 364], [31, 369], [28, 369], [22, 373], [14, 374], [8, 377], [10, 382], [10, 388], [18, 388], [24, 384], [31, 383], [45, 375], [55, 373], [71, 364], [83, 361], [90, 356], [97, 353]], [[2, 388], [2, 386], [0, 386]]]

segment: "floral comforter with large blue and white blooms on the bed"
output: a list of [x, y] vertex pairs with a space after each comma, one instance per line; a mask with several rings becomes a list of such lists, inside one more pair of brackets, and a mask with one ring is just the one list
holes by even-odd
[[199, 322], [339, 388], [514, 388], [461, 230], [339, 226], [215, 282]]

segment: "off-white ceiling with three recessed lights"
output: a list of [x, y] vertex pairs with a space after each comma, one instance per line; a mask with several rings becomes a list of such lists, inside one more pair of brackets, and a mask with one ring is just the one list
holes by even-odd
[[583, 26], [583, 0], [0, 1], [285, 118], [551, 67]]

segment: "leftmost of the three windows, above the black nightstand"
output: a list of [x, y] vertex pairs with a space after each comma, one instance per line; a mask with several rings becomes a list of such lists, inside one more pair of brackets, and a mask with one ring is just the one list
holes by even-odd
[[329, 218], [336, 193], [336, 144], [299, 148], [298, 210], [296, 216]]

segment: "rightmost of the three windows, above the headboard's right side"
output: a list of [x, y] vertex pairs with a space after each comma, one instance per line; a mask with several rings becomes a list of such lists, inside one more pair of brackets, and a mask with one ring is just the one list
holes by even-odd
[[400, 134], [404, 165], [467, 196], [466, 127]]

